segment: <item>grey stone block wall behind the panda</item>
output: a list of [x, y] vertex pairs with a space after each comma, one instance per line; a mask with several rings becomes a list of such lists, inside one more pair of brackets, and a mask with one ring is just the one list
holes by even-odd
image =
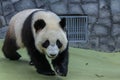
[[120, 0], [0, 0], [0, 38], [11, 16], [29, 8], [45, 8], [58, 14], [87, 14], [88, 43], [81, 47], [120, 51]]

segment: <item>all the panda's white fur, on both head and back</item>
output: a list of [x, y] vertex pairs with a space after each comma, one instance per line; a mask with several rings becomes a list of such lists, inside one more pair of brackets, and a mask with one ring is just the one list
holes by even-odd
[[[10, 21], [11, 30], [15, 34], [14, 36], [16, 38], [16, 43], [19, 47], [24, 47], [21, 39], [23, 23], [25, 22], [26, 18], [36, 10], [41, 9], [29, 9], [21, 11], [16, 14]], [[38, 19], [43, 19], [46, 23], [46, 26], [44, 29], [36, 33], [33, 24]], [[60, 18], [50, 11], [41, 10], [34, 13], [32, 17], [32, 32], [35, 39], [35, 46], [40, 52], [46, 52], [48, 55], [50, 55], [50, 53], [58, 55], [58, 52], [62, 52], [64, 49], [66, 49], [68, 42], [66, 33], [61, 29], [59, 22]], [[41, 46], [41, 44], [47, 39], [50, 41], [50, 45], [47, 49], [45, 49]], [[56, 46], [57, 40], [60, 40], [63, 45], [60, 50]]]

